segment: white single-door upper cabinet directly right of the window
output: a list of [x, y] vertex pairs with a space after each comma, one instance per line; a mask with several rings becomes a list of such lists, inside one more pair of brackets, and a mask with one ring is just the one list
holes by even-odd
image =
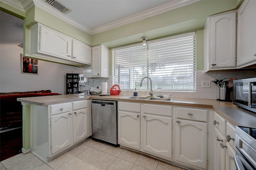
[[236, 67], [236, 11], [208, 18], [204, 44], [205, 72]]

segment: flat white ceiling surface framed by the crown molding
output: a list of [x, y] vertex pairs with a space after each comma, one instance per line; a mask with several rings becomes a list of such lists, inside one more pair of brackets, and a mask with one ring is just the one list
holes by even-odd
[[72, 11], [66, 14], [89, 29], [110, 24], [171, 0], [58, 0]]

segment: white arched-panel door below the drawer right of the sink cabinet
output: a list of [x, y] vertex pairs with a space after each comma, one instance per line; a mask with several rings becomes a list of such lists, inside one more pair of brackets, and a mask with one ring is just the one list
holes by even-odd
[[175, 160], [206, 168], [207, 123], [177, 119], [175, 124]]

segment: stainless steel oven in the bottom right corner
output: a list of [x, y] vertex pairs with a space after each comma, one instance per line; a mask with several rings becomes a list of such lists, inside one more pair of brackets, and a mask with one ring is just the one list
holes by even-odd
[[236, 126], [237, 170], [256, 170], [256, 128]]

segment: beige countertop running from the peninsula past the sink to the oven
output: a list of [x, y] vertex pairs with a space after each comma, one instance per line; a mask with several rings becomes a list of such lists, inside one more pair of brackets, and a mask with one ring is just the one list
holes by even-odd
[[18, 98], [20, 102], [36, 104], [36, 105], [50, 105], [64, 102], [73, 102], [77, 100], [98, 99], [98, 100], [114, 100], [126, 102], [143, 102], [152, 104], [168, 104], [176, 106], [190, 106], [200, 108], [211, 108], [228, 120], [230, 123], [238, 126], [246, 126], [256, 128], [256, 113], [244, 110], [232, 104], [232, 102], [222, 102], [211, 99], [196, 99], [196, 98], [174, 98], [172, 102], [166, 101], [152, 101], [152, 100], [138, 100], [138, 99], [123, 99], [128, 95], [117, 96], [80, 96], [80, 94], [65, 94], [57, 96], [38, 96], [29, 98]]

